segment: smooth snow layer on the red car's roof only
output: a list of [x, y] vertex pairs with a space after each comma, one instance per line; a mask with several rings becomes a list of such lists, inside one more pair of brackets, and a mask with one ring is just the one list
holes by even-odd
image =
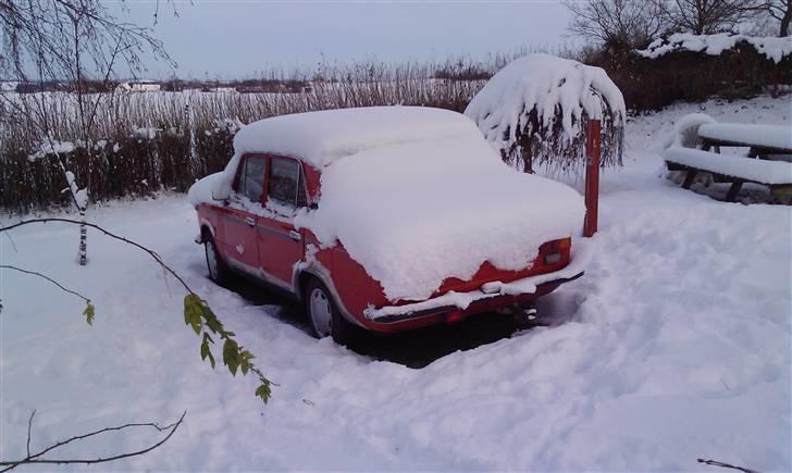
[[236, 134], [234, 150], [289, 155], [321, 169], [372, 148], [466, 135], [480, 132], [460, 113], [428, 107], [368, 107], [253, 122]]

